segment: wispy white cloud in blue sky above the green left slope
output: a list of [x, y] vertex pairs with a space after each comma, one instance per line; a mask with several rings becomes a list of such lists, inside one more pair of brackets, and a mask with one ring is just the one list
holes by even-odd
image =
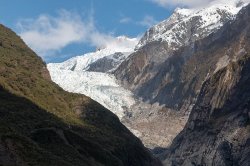
[[83, 20], [76, 13], [62, 10], [56, 17], [43, 14], [37, 19], [20, 20], [17, 25], [22, 39], [44, 59], [56, 56], [73, 43], [98, 48], [121, 44], [113, 34], [102, 33], [96, 28], [93, 14]]

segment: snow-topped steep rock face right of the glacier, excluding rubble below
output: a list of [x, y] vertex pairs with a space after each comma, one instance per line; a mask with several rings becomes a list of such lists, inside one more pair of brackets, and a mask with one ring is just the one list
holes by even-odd
[[[138, 50], [114, 72], [116, 78], [144, 101], [187, 109], [211, 66], [191, 61], [200, 51], [195, 41], [216, 32], [240, 9], [233, 0], [202, 9], [176, 9], [169, 19], [145, 33]], [[196, 66], [206, 68], [206, 72], [196, 76]]]

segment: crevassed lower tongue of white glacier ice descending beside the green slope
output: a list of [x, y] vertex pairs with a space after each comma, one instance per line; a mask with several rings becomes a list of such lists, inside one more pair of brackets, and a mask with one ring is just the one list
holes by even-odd
[[58, 69], [49, 64], [51, 78], [64, 90], [89, 96], [119, 118], [135, 104], [133, 94], [116, 83], [111, 74]]

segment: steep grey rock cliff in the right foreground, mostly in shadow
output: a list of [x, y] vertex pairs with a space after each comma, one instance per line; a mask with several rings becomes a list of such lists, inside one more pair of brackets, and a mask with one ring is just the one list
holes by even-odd
[[[250, 139], [250, 59], [232, 64], [234, 77], [228, 84], [221, 85], [227, 77], [226, 67], [218, 71], [201, 90], [197, 104], [190, 115], [185, 129], [177, 136], [167, 152], [165, 164], [168, 165], [248, 165], [242, 157], [249, 154], [247, 144]], [[242, 66], [241, 66], [242, 65]], [[243, 67], [243, 68], [242, 68]], [[237, 82], [234, 78], [239, 78]], [[224, 89], [224, 87], [228, 89]], [[221, 97], [216, 91], [220, 91]], [[214, 96], [215, 95], [215, 96]], [[219, 108], [214, 108], [215, 100], [223, 100]], [[194, 116], [198, 114], [198, 116]], [[244, 117], [244, 118], [243, 118]]]

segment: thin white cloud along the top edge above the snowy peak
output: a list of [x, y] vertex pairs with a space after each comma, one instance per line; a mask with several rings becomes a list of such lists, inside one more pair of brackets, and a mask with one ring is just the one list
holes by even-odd
[[[187, 7], [201, 7], [206, 6], [209, 3], [225, 3], [239, 2], [240, 0], [151, 0], [154, 3], [162, 7], [173, 7], [173, 6], [187, 6]], [[249, 2], [249, 0], [242, 0], [243, 2]]]

